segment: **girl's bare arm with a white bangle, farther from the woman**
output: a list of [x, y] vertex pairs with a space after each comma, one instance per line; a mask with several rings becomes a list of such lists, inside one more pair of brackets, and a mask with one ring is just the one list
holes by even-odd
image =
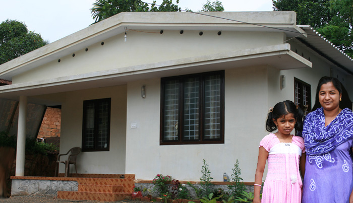
[[[265, 150], [265, 148], [260, 147], [259, 148], [259, 158], [257, 160], [257, 167], [256, 167], [256, 173], [255, 173], [255, 184], [261, 185], [262, 183], [262, 176], [264, 175], [264, 170], [266, 166], [266, 160], [268, 157], [268, 152]], [[254, 185], [254, 201], [256, 203], [260, 203], [260, 186]]]

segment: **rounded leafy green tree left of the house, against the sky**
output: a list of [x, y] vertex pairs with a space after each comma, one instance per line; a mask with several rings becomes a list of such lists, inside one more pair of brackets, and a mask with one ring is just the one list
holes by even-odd
[[8, 19], [0, 24], [0, 64], [47, 43], [40, 34], [28, 31], [26, 24]]

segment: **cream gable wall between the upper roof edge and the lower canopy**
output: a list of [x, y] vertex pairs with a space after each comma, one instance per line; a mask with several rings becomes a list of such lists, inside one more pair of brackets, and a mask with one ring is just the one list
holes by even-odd
[[68, 53], [61, 62], [57, 58], [13, 77], [13, 84], [282, 44], [284, 36], [271, 32], [222, 31], [217, 35], [215, 31], [203, 31], [202, 36], [199, 31], [187, 30], [183, 34], [179, 30], [152, 32], [156, 33], [128, 31], [126, 42], [124, 35], [117, 35], [104, 40], [104, 45], [99, 42], [87, 47], [87, 52], [75, 52], [75, 57]]

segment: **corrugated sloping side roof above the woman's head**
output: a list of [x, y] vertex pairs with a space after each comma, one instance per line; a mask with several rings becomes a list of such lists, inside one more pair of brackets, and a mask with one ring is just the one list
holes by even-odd
[[330, 60], [347, 73], [353, 75], [353, 58], [338, 49], [332, 42], [322, 36], [311, 26], [299, 25], [298, 27], [305, 30], [308, 34], [306, 38], [297, 38], [299, 41], [306, 44], [308, 47]]

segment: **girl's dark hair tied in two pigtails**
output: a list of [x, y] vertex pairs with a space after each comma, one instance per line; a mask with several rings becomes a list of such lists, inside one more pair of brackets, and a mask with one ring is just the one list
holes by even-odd
[[276, 124], [274, 124], [273, 119], [277, 120], [278, 118], [292, 113], [294, 118], [297, 119], [297, 122], [294, 126], [296, 130], [302, 131], [303, 130], [303, 110], [295, 105], [292, 101], [286, 100], [283, 102], [277, 103], [267, 115], [266, 120], [266, 130], [272, 132], [277, 129]]

